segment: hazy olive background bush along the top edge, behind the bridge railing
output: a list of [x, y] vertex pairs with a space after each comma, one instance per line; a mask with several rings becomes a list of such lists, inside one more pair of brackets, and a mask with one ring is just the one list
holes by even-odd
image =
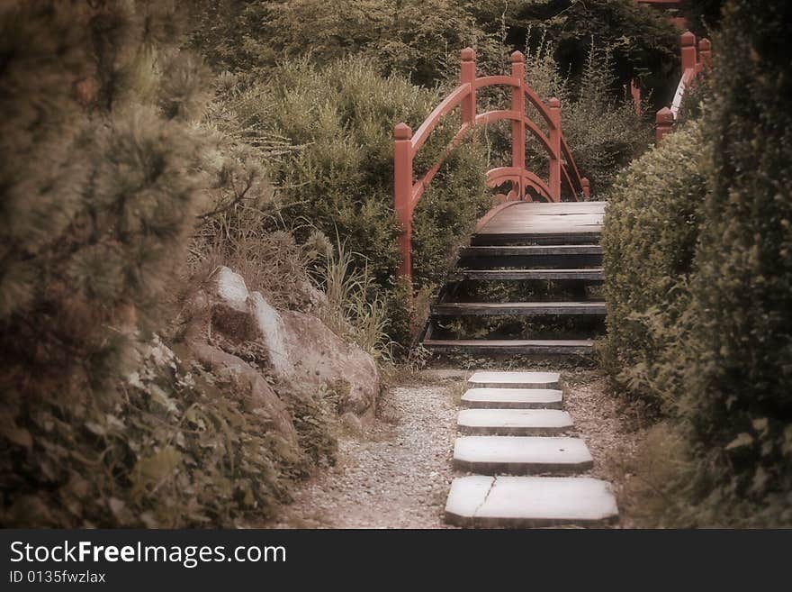
[[384, 75], [431, 86], [465, 46], [492, 42], [454, 0], [203, 2], [193, 45], [219, 69], [249, 73], [311, 54], [319, 64], [365, 55]]

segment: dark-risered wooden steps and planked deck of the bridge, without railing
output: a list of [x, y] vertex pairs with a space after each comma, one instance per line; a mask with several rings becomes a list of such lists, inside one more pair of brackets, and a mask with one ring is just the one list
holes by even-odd
[[438, 354], [585, 355], [604, 330], [604, 205], [519, 204], [473, 235], [430, 308]]

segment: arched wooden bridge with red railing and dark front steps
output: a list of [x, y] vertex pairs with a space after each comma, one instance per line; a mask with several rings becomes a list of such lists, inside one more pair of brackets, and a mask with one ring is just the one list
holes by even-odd
[[[496, 86], [510, 89], [509, 108], [478, 113], [477, 92]], [[533, 109], [527, 111], [531, 105]], [[443, 156], [416, 178], [414, 157], [441, 119], [457, 108], [461, 110], [460, 129]], [[529, 116], [531, 112], [537, 114], [539, 124]], [[582, 201], [590, 196], [589, 181], [581, 177], [564, 140], [560, 102], [551, 98], [545, 103], [526, 84], [525, 58], [519, 51], [511, 56], [510, 76], [477, 77], [475, 53], [466, 48], [459, 86], [414, 134], [405, 123], [395, 126], [400, 273], [410, 277], [412, 215], [448, 152], [474, 127], [501, 120], [511, 122], [511, 166], [488, 171], [487, 185], [509, 189], [498, 195], [500, 204], [478, 224], [472, 246], [463, 250], [457, 262], [455, 276], [432, 305], [423, 344], [434, 351], [586, 353], [592, 344], [590, 333], [601, 330], [605, 316], [605, 304], [590, 291], [602, 280], [599, 230], [604, 203]], [[545, 150], [547, 178], [526, 168], [528, 134]], [[511, 301], [504, 296], [498, 302], [482, 302], [482, 291], [477, 290], [482, 282], [510, 283], [512, 288], [518, 282], [511, 293], [532, 297]], [[502, 293], [508, 295], [509, 288]], [[483, 336], [481, 328], [474, 328], [481, 317], [502, 320], [504, 316], [512, 325], [508, 338], [504, 338], [503, 323], [495, 323], [499, 328]], [[476, 333], [475, 338], [465, 332]]]

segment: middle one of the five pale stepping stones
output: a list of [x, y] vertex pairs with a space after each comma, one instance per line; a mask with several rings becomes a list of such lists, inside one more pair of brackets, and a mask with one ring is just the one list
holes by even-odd
[[456, 418], [462, 433], [552, 436], [572, 427], [572, 417], [557, 409], [463, 409]]

